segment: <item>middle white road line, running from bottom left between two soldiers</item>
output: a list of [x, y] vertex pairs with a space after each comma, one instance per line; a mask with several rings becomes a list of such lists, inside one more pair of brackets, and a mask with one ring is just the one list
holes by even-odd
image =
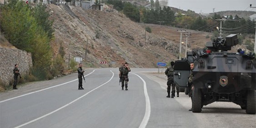
[[73, 100], [72, 102], [68, 103], [67, 105], [62, 106], [61, 108], [56, 109], [55, 111], [52, 111], [52, 112], [50, 112], [50, 113], [48, 113], [48, 114], [46, 114], [46, 115], [44, 115], [44, 116], [38, 117], [38, 118], [36, 118], [36, 119], [33, 119], [33, 120], [29, 121], [29, 122], [26, 122], [26, 123], [24, 123], [24, 124], [22, 124], [22, 125], [19, 125], [19, 126], [15, 127], [15, 128], [20, 128], [20, 127], [23, 127], [23, 126], [25, 126], [25, 125], [28, 125], [28, 124], [30, 124], [30, 123], [32, 123], [32, 122], [35, 122], [35, 121], [37, 121], [37, 120], [39, 120], [39, 119], [42, 119], [42, 118], [44, 118], [44, 117], [46, 117], [46, 116], [49, 116], [49, 115], [51, 115], [52, 113], [55, 113], [55, 112], [57, 112], [57, 111], [59, 111], [59, 110], [65, 108], [65, 107], [67, 107], [68, 105], [73, 104], [74, 102], [76, 102], [76, 101], [78, 101], [79, 99], [83, 98], [84, 96], [88, 95], [88, 94], [91, 93], [92, 91], [98, 89], [99, 87], [102, 87], [103, 85], [105, 85], [105, 84], [107, 84], [109, 81], [111, 81], [111, 80], [113, 79], [113, 77], [114, 77], [114, 73], [112, 72], [112, 70], [111, 70], [111, 73], [112, 73], [111, 79], [109, 79], [109, 80], [108, 80], [107, 82], [105, 82], [104, 84], [101, 84], [100, 86], [94, 88], [93, 90], [90, 90], [88, 93], [85, 93], [83, 96], [80, 96], [79, 98]]

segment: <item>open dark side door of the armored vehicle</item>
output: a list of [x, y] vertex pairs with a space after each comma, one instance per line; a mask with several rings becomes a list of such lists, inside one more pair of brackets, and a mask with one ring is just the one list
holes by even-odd
[[179, 87], [188, 87], [187, 82], [190, 75], [190, 64], [188, 61], [175, 61], [174, 63], [174, 82]]

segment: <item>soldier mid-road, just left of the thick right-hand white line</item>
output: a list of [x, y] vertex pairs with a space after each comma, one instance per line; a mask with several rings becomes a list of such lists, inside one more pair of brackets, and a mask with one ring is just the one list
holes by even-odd
[[125, 86], [125, 90], [128, 90], [128, 73], [131, 72], [130, 67], [128, 67], [128, 63], [125, 62], [124, 67], [121, 69], [119, 75], [121, 76], [121, 82], [122, 82], [122, 90], [124, 90], [124, 86]]

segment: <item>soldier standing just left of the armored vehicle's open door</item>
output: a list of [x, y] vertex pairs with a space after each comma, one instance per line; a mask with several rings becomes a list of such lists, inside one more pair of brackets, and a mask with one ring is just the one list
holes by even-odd
[[179, 87], [175, 86], [175, 83], [174, 83], [174, 79], [173, 79], [173, 66], [174, 66], [174, 61], [171, 62], [171, 66], [169, 68], [166, 69], [165, 71], [165, 74], [167, 76], [167, 94], [168, 98], [170, 98], [170, 91], [171, 91], [171, 86], [172, 86], [172, 98], [175, 97], [175, 87], [177, 89], [177, 97], [179, 97]]

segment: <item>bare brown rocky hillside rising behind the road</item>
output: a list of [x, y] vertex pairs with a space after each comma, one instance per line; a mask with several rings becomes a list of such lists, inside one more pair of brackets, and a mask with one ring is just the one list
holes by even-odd
[[[158, 61], [175, 59], [172, 54], [179, 51], [172, 41], [148, 32], [145, 42], [144, 28], [117, 12], [53, 4], [49, 10], [54, 19], [55, 53], [62, 43], [66, 58], [69, 55], [86, 58], [87, 67], [108, 67], [110, 62], [119, 66], [125, 61], [132, 67], [156, 67]], [[100, 61], [108, 64], [99, 64]]]

